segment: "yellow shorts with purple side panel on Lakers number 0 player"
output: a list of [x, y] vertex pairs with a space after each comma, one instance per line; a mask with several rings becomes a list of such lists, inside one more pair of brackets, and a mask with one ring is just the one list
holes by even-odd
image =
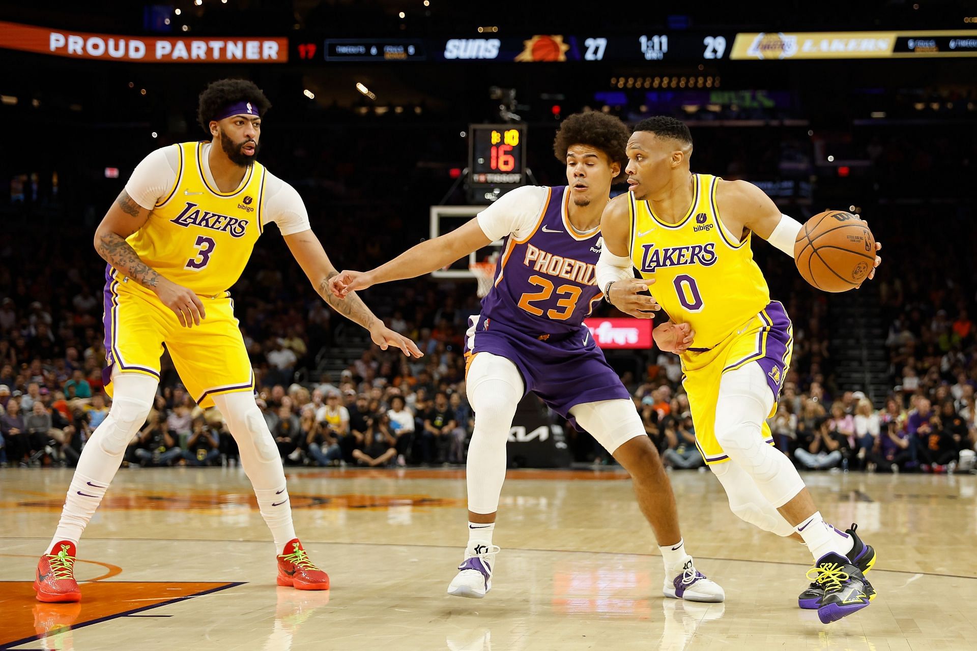
[[[717, 346], [707, 350], [690, 349], [682, 355], [685, 378], [682, 386], [689, 396], [692, 422], [696, 428], [696, 445], [706, 464], [722, 464], [729, 457], [716, 441], [715, 424], [719, 402], [719, 383], [723, 374], [751, 362], [757, 362], [767, 375], [767, 384], [774, 392], [774, 408], [790, 366], [793, 350], [793, 328], [784, 305], [774, 301], [746, 322]], [[764, 441], [773, 443], [770, 427], [763, 423]]]

